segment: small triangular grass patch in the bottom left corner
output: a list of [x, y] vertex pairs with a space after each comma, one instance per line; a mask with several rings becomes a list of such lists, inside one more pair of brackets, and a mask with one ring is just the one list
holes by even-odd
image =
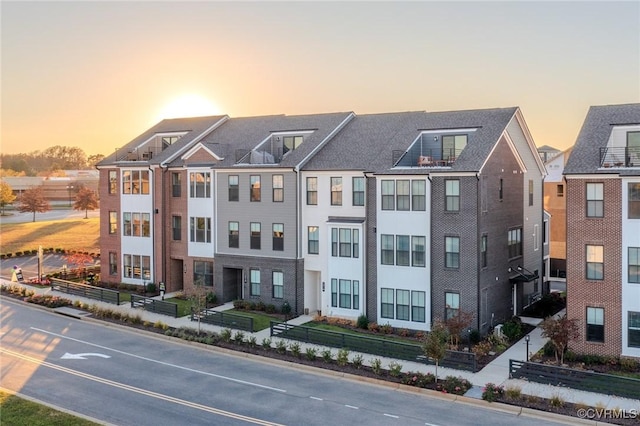
[[2, 424], [7, 426], [90, 426], [98, 424], [4, 391], [0, 391], [0, 412], [2, 413]]

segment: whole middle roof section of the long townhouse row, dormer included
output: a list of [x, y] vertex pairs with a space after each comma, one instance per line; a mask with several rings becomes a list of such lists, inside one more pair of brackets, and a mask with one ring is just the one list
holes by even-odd
[[[308, 155], [326, 142], [336, 129], [352, 116], [351, 112], [312, 115], [270, 115], [260, 117], [230, 118], [222, 126], [201, 141], [221, 160], [212, 164], [216, 168], [226, 167], [298, 167]], [[268, 159], [275, 136], [303, 135], [304, 141], [295, 149], [280, 152]], [[277, 161], [276, 161], [277, 160]], [[176, 159], [171, 165], [179, 166]]]

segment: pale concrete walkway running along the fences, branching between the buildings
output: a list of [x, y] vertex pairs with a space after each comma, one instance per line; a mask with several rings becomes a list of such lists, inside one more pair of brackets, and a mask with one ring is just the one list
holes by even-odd
[[[0, 279], [0, 282], [2, 282], [2, 284], [16, 284], [16, 283], [11, 283], [4, 279]], [[117, 310], [123, 313], [126, 312], [131, 314], [132, 312], [134, 312], [136, 314], [139, 314], [143, 320], [149, 321], [149, 322], [162, 321], [163, 323], [176, 328], [179, 328], [179, 327], [197, 328], [198, 327], [197, 323], [192, 322], [189, 317], [172, 318], [166, 315], [156, 314], [156, 313], [148, 312], [142, 309], [133, 309], [131, 308], [130, 304], [123, 304], [123, 305], [116, 306], [109, 303], [98, 302], [92, 299], [86, 299], [79, 296], [52, 291], [50, 288], [37, 289], [30, 286], [26, 286], [26, 287], [33, 289], [38, 294], [52, 294], [52, 295], [66, 298], [66, 299], [71, 299], [74, 301], [80, 300], [81, 302], [88, 303], [89, 305], [98, 305], [106, 309]], [[165, 299], [169, 297], [172, 297], [172, 295], [171, 294], [165, 295]], [[227, 304], [218, 306], [217, 308], [214, 308], [214, 309], [219, 311], [224, 311], [232, 308], [233, 308], [233, 304], [227, 303]], [[67, 314], [75, 311], [78, 316], [81, 316], [82, 311], [74, 310], [73, 308], [66, 308], [66, 309], [70, 311], [70, 312], [67, 312]], [[557, 315], [562, 315], [563, 313], [564, 311], [561, 311]], [[302, 316], [293, 318], [287, 322], [293, 325], [301, 325], [311, 321], [312, 319], [313, 318], [311, 316], [302, 315]], [[531, 323], [533, 325], [537, 325], [537, 323], [540, 322], [539, 319], [526, 319], [526, 318], [523, 321], [527, 323]], [[201, 323], [200, 327], [202, 330], [213, 331], [213, 332], [220, 332], [223, 329], [223, 327], [219, 327], [211, 324], [205, 324], [205, 323]], [[529, 333], [529, 353], [530, 354], [535, 354], [545, 345], [546, 339], [542, 337], [541, 333], [542, 333], [542, 330], [538, 327], [536, 327], [533, 331]], [[247, 337], [254, 336], [258, 344], [261, 344], [263, 339], [265, 338], [271, 338], [270, 330], [268, 328], [256, 333], [246, 333], [246, 335]], [[271, 339], [272, 339], [272, 345], [275, 345], [278, 340], [281, 340], [278, 337], [273, 337]], [[313, 347], [313, 348], [316, 348], [318, 352], [325, 349], [330, 349], [334, 357], [338, 353], [338, 349], [336, 348], [326, 348], [318, 345], [307, 344], [304, 342], [299, 342], [299, 343], [300, 343], [301, 350], [303, 352], [306, 350], [307, 347]], [[632, 409], [640, 410], [640, 400], [636, 400], [636, 399], [619, 398], [619, 397], [613, 397], [613, 396], [599, 394], [599, 393], [579, 391], [579, 390], [570, 389], [566, 387], [543, 385], [543, 384], [528, 382], [524, 380], [510, 379], [509, 378], [509, 360], [514, 359], [514, 360], [524, 361], [526, 358], [526, 352], [527, 352], [526, 346], [527, 346], [526, 340], [525, 338], [522, 338], [520, 341], [516, 342], [504, 353], [502, 353], [500, 356], [498, 356], [496, 359], [490, 362], [482, 370], [476, 373], [471, 373], [471, 372], [462, 371], [462, 370], [454, 370], [454, 369], [445, 368], [445, 367], [438, 367], [438, 377], [444, 378], [446, 376], [456, 376], [456, 377], [462, 377], [469, 380], [474, 385], [474, 387], [471, 390], [469, 390], [469, 392], [467, 392], [465, 396], [468, 396], [471, 398], [477, 398], [477, 399], [481, 399], [482, 388], [487, 383], [494, 383], [497, 385], [502, 385], [505, 388], [518, 387], [521, 389], [522, 394], [525, 394], [525, 395], [539, 396], [543, 398], [552, 398], [554, 396], [559, 396], [566, 402], [580, 403], [580, 404], [584, 404], [592, 407], [619, 408], [623, 410], [632, 410]], [[354, 354], [356, 354], [356, 352], [352, 352], [350, 355], [353, 356]], [[374, 359], [379, 359], [382, 362], [383, 368], [387, 368], [392, 362], [397, 362], [402, 365], [403, 372], [412, 371], [412, 372], [435, 374], [435, 365], [427, 365], [419, 362], [411, 362], [411, 361], [405, 361], [405, 360], [396, 360], [392, 358], [385, 358], [385, 357], [380, 357], [380, 356], [375, 356], [375, 355], [365, 354], [365, 353], [362, 353], [361, 355], [363, 356], [365, 365], [371, 365]]]

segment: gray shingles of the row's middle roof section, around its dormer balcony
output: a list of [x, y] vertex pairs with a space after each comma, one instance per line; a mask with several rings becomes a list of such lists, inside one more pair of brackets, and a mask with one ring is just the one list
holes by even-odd
[[[351, 114], [351, 112], [337, 112], [231, 118], [207, 135], [201, 143], [219, 157], [223, 157], [223, 161], [216, 163], [214, 167], [231, 167], [236, 164], [237, 152], [248, 152], [256, 148], [274, 132], [313, 130], [312, 134], [305, 137], [300, 147], [287, 153], [277, 164], [279, 167], [295, 167]], [[176, 160], [171, 163], [171, 166], [180, 164], [180, 160]], [[252, 164], [251, 166], [262, 165]]]

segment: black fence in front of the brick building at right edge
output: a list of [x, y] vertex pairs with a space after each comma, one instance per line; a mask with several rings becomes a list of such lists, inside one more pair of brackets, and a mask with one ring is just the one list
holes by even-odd
[[509, 360], [509, 377], [605, 395], [640, 399], [640, 379], [630, 377], [513, 359]]

